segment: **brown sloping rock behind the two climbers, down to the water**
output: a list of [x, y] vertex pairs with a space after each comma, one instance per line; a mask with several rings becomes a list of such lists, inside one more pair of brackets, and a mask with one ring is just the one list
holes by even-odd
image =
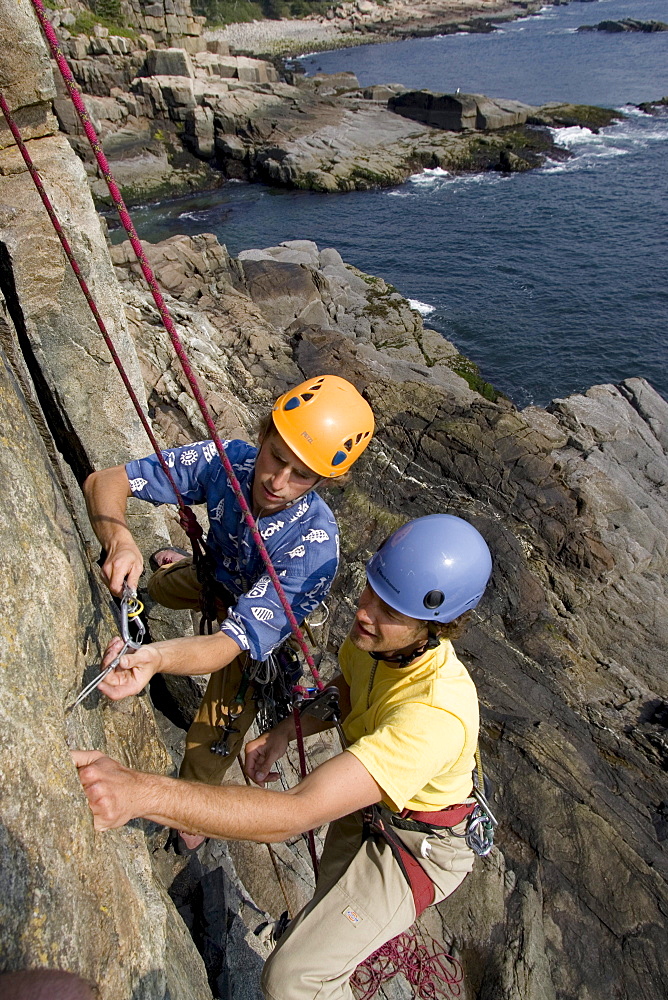
[[[463, 514], [490, 543], [493, 591], [459, 651], [483, 701], [500, 852], [425, 918], [463, 960], [467, 995], [652, 995], [666, 971], [668, 404], [641, 379], [548, 410], [484, 399], [452, 347], [429, 355], [435, 335], [397, 293], [307, 241], [237, 261], [210, 236], [147, 249], [226, 432], [321, 370], [353, 378], [374, 407], [378, 434], [331, 498], [344, 552], [331, 640], [365, 559], [406, 518]], [[126, 245], [114, 260], [148, 390], [164, 400], [156, 419], [172, 438], [200, 436], [169, 361], [161, 381], [162, 335], [146, 340], [151, 307]], [[269, 871], [257, 847], [236, 856]]]

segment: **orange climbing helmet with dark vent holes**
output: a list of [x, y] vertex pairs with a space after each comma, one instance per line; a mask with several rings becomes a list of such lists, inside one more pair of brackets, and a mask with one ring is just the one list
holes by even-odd
[[288, 448], [319, 476], [342, 476], [373, 436], [373, 412], [354, 385], [319, 375], [283, 393], [272, 410]]

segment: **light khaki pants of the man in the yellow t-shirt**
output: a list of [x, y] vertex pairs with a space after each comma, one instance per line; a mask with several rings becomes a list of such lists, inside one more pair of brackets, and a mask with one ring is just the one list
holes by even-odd
[[[330, 825], [313, 899], [295, 917], [267, 959], [262, 990], [267, 1000], [353, 1000], [350, 977], [369, 955], [407, 930], [415, 904], [392, 851], [383, 840], [362, 841], [362, 813]], [[455, 827], [463, 834], [466, 822]], [[442, 830], [397, 830], [434, 883], [434, 903], [461, 885], [474, 854], [463, 837]]]

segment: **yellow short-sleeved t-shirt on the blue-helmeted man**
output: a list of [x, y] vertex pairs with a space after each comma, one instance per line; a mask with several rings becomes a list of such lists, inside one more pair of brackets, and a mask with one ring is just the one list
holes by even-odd
[[352, 709], [352, 753], [393, 811], [437, 811], [471, 794], [478, 696], [449, 641], [407, 667], [374, 660], [346, 639], [339, 651]]

